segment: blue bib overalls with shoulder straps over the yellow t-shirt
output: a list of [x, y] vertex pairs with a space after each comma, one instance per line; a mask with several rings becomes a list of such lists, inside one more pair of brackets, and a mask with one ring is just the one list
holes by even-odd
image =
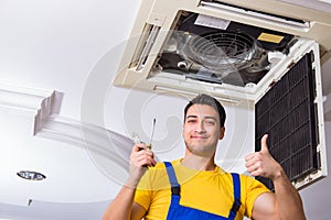
[[190, 220], [204, 220], [204, 219], [235, 219], [236, 212], [241, 208], [241, 179], [238, 174], [232, 174], [233, 184], [234, 184], [234, 204], [232, 206], [232, 209], [229, 211], [228, 217], [222, 217], [217, 216], [215, 213], [202, 211], [199, 209], [184, 207], [180, 205], [180, 185], [177, 180], [174, 169], [172, 167], [172, 164], [170, 162], [164, 162], [168, 177], [171, 184], [171, 204], [169, 207], [167, 219], [174, 220], [174, 219], [190, 219]]

